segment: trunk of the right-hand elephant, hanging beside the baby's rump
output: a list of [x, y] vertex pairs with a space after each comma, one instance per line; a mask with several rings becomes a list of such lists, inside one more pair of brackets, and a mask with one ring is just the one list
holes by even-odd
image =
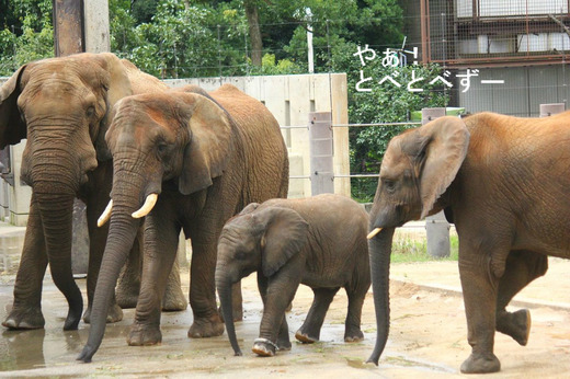
[[376, 345], [367, 361], [378, 365], [390, 330], [390, 254], [394, 228], [383, 229], [369, 240], [372, 288], [376, 311]]

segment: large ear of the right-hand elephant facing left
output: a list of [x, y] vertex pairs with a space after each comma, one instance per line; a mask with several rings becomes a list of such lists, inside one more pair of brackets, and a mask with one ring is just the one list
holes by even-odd
[[423, 137], [424, 163], [420, 174], [421, 218], [452, 184], [467, 154], [469, 131], [458, 117], [440, 117], [419, 129]]

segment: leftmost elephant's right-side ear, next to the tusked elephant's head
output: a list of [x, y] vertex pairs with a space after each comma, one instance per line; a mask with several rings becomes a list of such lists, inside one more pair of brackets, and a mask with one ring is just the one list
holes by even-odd
[[105, 142], [105, 133], [109, 130], [115, 113], [113, 106], [123, 97], [133, 94], [130, 79], [127, 69], [114, 54], [101, 53], [86, 55], [88, 59], [94, 59], [109, 73], [109, 88], [106, 88], [106, 114], [101, 119], [99, 133], [95, 139], [96, 157], [100, 161], [110, 160], [111, 151]]

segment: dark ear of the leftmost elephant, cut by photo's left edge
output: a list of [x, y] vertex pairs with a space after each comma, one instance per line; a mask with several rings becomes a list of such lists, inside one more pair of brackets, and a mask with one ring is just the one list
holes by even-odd
[[26, 65], [20, 67], [0, 88], [0, 149], [26, 138], [26, 125], [18, 108], [20, 80], [25, 68]]

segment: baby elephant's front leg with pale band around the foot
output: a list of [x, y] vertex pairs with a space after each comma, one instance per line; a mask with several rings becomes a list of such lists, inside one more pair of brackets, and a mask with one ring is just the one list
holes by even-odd
[[252, 352], [260, 356], [274, 356], [276, 348], [281, 348], [280, 345], [283, 345], [284, 349], [290, 348], [285, 310], [300, 284], [298, 273], [303, 271], [296, 266], [298, 265], [285, 265], [267, 282], [260, 335], [252, 347]]

